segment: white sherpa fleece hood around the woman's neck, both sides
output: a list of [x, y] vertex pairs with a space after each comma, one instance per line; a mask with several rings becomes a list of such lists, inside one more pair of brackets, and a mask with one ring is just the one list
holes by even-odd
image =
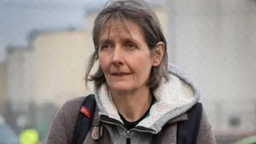
[[[163, 81], [153, 92], [156, 102], [151, 106], [149, 116], [137, 126], [159, 132], [168, 121], [185, 113], [199, 101], [200, 93], [190, 76], [174, 65], [169, 64], [168, 69], [170, 80]], [[94, 94], [99, 115], [108, 116], [123, 123], [111, 95], [107, 92], [106, 84], [94, 89]]]

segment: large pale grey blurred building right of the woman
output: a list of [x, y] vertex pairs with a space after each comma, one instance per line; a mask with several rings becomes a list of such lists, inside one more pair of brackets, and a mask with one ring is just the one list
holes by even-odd
[[256, 1], [166, 1], [169, 57], [201, 89], [216, 131], [256, 130]]

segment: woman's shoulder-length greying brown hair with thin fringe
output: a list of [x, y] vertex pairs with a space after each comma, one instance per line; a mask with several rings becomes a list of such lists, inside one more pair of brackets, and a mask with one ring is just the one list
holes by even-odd
[[131, 20], [134, 23], [137, 23], [143, 31], [149, 50], [155, 49], [158, 42], [164, 43], [165, 51], [163, 59], [158, 67], [151, 68], [148, 86], [151, 90], [155, 90], [163, 81], [163, 78], [165, 81], [169, 81], [169, 71], [167, 69], [168, 57], [166, 51], [167, 43], [156, 13], [151, 9], [150, 5], [144, 1], [121, 0], [107, 3], [105, 8], [101, 10], [95, 18], [92, 32], [95, 51], [91, 55], [87, 65], [85, 84], [87, 85], [89, 81], [93, 81], [96, 86], [100, 86], [102, 83], [106, 82], [106, 78], [100, 66], [95, 74], [90, 75], [90, 72], [94, 63], [99, 58], [98, 51], [100, 31], [108, 21], [113, 19], [120, 20], [124, 27], [124, 20]]

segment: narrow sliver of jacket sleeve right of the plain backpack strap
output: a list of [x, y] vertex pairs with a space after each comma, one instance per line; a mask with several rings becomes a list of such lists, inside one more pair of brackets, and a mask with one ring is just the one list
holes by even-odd
[[213, 144], [217, 143], [212, 132], [212, 126], [203, 110], [201, 123], [199, 125], [199, 131], [197, 135], [196, 144]]

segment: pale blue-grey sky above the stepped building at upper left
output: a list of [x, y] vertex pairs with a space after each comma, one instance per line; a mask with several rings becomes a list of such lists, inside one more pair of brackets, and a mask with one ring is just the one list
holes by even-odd
[[[30, 30], [61, 29], [68, 26], [83, 28], [86, 9], [101, 7], [106, 2], [107, 0], [0, 0], [0, 60], [7, 44], [26, 45], [26, 36]], [[154, 3], [154, 0], [149, 2]]]

